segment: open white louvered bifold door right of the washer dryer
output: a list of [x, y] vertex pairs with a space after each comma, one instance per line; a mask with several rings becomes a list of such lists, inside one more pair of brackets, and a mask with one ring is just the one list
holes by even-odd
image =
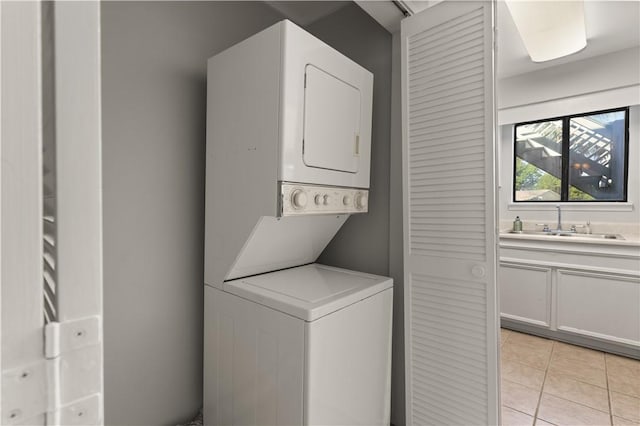
[[402, 23], [407, 424], [498, 424], [494, 5]]

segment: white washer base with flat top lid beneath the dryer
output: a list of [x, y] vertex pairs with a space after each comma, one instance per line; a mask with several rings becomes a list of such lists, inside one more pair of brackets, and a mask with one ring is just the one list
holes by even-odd
[[205, 286], [207, 424], [388, 425], [392, 294], [319, 264]]

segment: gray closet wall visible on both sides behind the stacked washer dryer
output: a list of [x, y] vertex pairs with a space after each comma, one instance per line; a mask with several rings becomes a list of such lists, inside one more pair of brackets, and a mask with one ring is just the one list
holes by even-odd
[[[105, 421], [202, 399], [206, 60], [282, 19], [260, 2], [103, 2]], [[388, 274], [391, 36], [357, 6], [310, 31], [375, 73], [371, 205], [324, 263]]]

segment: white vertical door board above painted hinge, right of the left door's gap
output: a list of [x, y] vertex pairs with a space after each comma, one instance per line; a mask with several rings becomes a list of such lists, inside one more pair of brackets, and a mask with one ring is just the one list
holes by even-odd
[[56, 3], [60, 320], [102, 314], [100, 4]]

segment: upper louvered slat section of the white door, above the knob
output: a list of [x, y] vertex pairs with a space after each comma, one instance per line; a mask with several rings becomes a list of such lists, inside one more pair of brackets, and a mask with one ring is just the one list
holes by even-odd
[[[483, 48], [484, 21], [482, 6], [451, 19], [429, 30], [417, 33], [408, 40], [408, 140], [409, 161], [409, 217], [411, 225], [434, 225], [439, 229], [424, 227], [410, 228], [411, 252], [418, 255], [457, 256], [470, 260], [484, 261], [486, 240], [485, 205], [470, 203], [461, 209], [456, 201], [443, 199], [428, 204], [414, 203], [414, 197], [424, 197], [433, 189], [446, 186], [455, 191], [455, 200], [480, 196], [484, 199], [487, 188], [484, 164], [484, 58], [476, 56], [474, 61], [448, 69], [445, 73], [433, 72], [441, 62], [448, 60], [447, 55], [426, 62], [431, 53], [456, 51], [460, 44], [473, 42], [476, 49]], [[440, 117], [431, 110], [433, 104], [438, 109], [447, 109], [442, 100], [431, 100], [438, 93], [458, 93], [476, 91], [464, 101], [454, 101], [455, 109]], [[475, 149], [476, 154], [464, 154], [460, 150], [431, 151], [431, 155], [419, 157], [429, 147], [446, 143], [448, 131], [464, 132], [460, 146]], [[433, 139], [433, 132], [444, 135]], [[429, 151], [426, 151], [429, 152]], [[455, 162], [447, 160], [454, 156]], [[446, 165], [442, 167], [442, 164]], [[468, 185], [479, 185], [469, 189]], [[432, 199], [432, 201], [435, 201]], [[435, 233], [446, 231], [442, 238]], [[458, 237], [458, 238], [456, 238]], [[475, 244], [474, 244], [475, 243]]]

